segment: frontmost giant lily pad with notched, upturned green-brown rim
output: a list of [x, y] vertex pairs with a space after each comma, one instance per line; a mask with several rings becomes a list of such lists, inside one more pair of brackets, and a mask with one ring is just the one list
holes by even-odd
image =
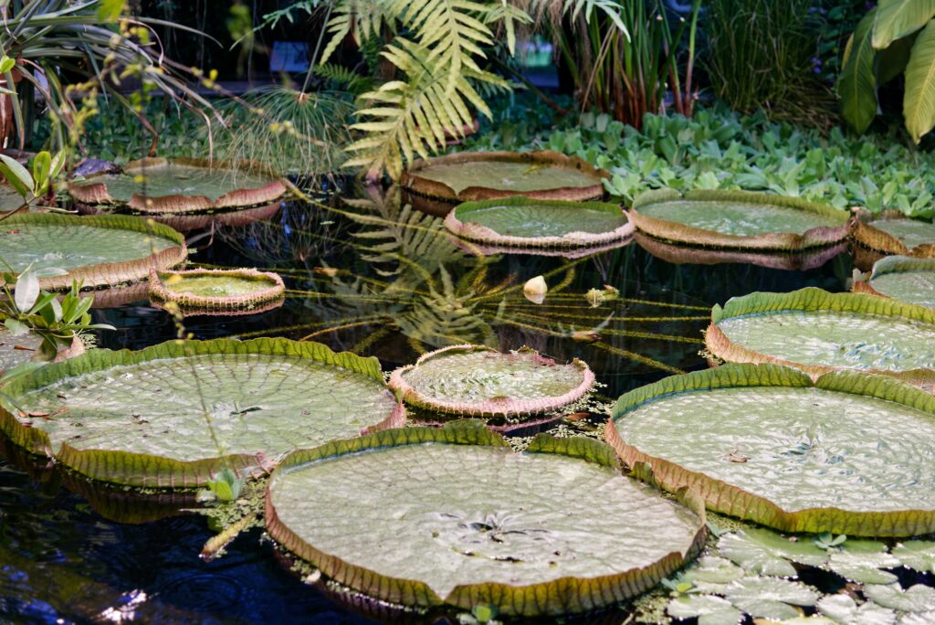
[[705, 536], [692, 495], [687, 507], [659, 497], [593, 440], [539, 435], [515, 453], [456, 422], [295, 452], [270, 480], [266, 528], [384, 601], [561, 615], [623, 601], [681, 567]]

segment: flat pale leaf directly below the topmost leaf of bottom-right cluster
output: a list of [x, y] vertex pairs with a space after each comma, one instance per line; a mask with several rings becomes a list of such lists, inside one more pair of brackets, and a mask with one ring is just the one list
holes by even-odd
[[777, 577], [745, 577], [725, 589], [727, 601], [752, 617], [782, 620], [801, 612], [793, 605], [814, 605], [820, 595], [814, 589]]

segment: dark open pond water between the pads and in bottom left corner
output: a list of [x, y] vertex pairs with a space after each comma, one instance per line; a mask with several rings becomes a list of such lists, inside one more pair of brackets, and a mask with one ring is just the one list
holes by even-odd
[[[392, 191], [360, 196], [330, 209], [286, 204], [269, 221], [195, 240], [194, 263], [279, 271], [288, 291], [275, 311], [190, 317], [185, 331], [200, 339], [309, 338], [378, 356], [384, 371], [448, 344], [530, 345], [559, 360], [582, 358], [603, 385], [599, 393], [616, 398], [706, 367], [698, 352], [712, 304], [753, 291], [841, 291], [851, 274], [847, 254], [807, 271], [674, 265], [632, 241], [576, 259], [483, 257]], [[550, 292], [536, 304], [522, 286], [539, 274]], [[585, 294], [605, 284], [619, 297], [592, 306]], [[117, 327], [99, 339], [113, 349], [179, 332], [145, 301], [97, 310], [94, 321]], [[203, 516], [114, 522], [95, 512], [101, 503], [82, 484], [0, 446], [0, 622], [374, 622], [303, 584], [258, 530], [206, 563], [198, 553], [213, 532]], [[133, 510], [111, 501], [108, 516]], [[135, 514], [131, 520], [145, 517]], [[608, 622], [623, 616], [617, 610]]]

